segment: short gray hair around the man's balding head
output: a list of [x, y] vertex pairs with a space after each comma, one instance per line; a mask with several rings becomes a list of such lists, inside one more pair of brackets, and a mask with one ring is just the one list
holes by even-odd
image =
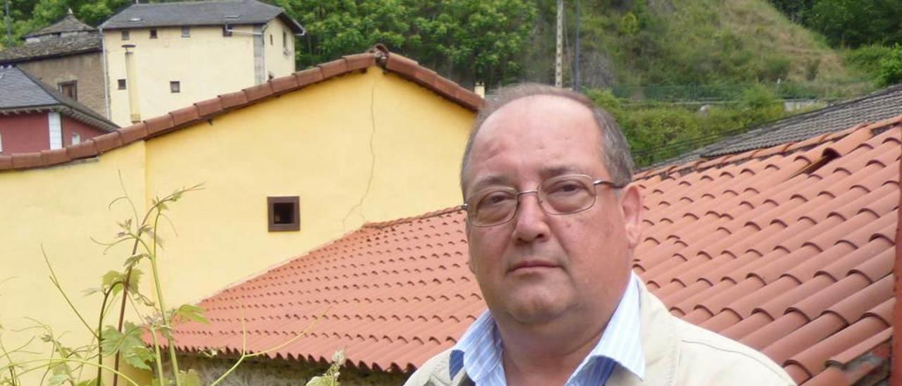
[[[489, 115], [494, 114], [503, 106], [523, 97], [535, 96], [552, 96], [566, 97], [592, 111], [595, 125], [601, 132], [602, 137], [602, 161], [608, 173], [611, 174], [612, 182], [626, 185], [632, 181], [632, 157], [630, 156], [630, 145], [623, 137], [620, 126], [614, 121], [613, 116], [604, 111], [603, 108], [595, 106], [592, 100], [578, 92], [559, 87], [540, 85], [536, 83], [524, 83], [510, 87], [502, 87], [495, 90], [492, 96], [488, 97], [485, 105], [479, 109], [476, 115], [476, 122], [470, 137], [466, 141], [466, 149], [464, 151], [464, 160], [461, 161], [460, 167], [460, 190], [465, 193], [464, 174], [467, 164], [470, 160], [470, 152], [473, 151], [473, 142], [475, 142], [476, 134], [488, 119]], [[466, 197], [464, 198], [466, 199]]]

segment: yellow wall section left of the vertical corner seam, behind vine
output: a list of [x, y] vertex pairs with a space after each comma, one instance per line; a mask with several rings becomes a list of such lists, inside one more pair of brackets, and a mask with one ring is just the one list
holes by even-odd
[[[47, 323], [56, 335], [65, 334], [66, 345], [90, 341], [87, 328], [52, 286], [41, 246], [69, 298], [83, 310], [87, 323], [96, 326], [100, 298], [85, 297], [82, 290], [99, 287], [101, 276], [121, 269], [128, 254], [122, 246], [105, 255], [105, 247], [90, 239], [112, 240], [119, 231], [116, 222], [132, 213], [124, 202], [108, 207], [123, 195], [122, 186], [142, 205], [144, 160], [144, 143], [135, 142], [99, 160], [0, 173], [0, 197], [4, 198], [0, 200], [0, 337], [7, 350], [41, 335], [40, 330], [15, 332], [36, 325], [25, 317]], [[49, 346], [36, 339], [30, 348], [47, 353]], [[17, 356], [18, 360], [34, 358]], [[0, 360], [0, 365], [5, 364]], [[40, 372], [32, 373], [23, 384], [39, 384], [40, 376]]]

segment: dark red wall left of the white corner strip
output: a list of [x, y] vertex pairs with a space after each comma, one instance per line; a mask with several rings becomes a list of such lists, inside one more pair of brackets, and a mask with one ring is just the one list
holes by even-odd
[[47, 113], [0, 115], [3, 153], [40, 152], [51, 148]]

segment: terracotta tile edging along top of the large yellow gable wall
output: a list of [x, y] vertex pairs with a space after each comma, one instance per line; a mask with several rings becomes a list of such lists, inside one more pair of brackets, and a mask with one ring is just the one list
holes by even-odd
[[29, 152], [11, 155], [0, 155], [0, 171], [41, 168], [59, 165], [69, 161], [96, 157], [135, 141], [143, 141], [165, 133], [189, 127], [192, 124], [212, 119], [229, 111], [252, 106], [271, 97], [296, 91], [310, 85], [340, 77], [373, 66], [380, 66], [388, 72], [396, 74], [426, 87], [447, 100], [466, 109], [475, 111], [483, 104], [483, 98], [455, 82], [442, 78], [436, 71], [420, 66], [396, 53], [391, 53], [382, 45], [364, 53], [345, 56], [320, 64], [312, 69], [295, 72], [287, 77], [274, 78], [261, 85], [247, 87], [234, 93], [224, 94], [197, 102], [191, 106], [171, 111], [133, 124], [113, 133], [99, 135], [78, 144], [61, 149]]

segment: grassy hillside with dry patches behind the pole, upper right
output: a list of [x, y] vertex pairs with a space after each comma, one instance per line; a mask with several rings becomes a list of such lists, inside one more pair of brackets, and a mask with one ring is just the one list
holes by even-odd
[[[568, 3], [573, 36], [575, 2]], [[555, 2], [539, 1], [526, 78], [550, 81]], [[861, 87], [842, 56], [766, 0], [583, 0], [584, 87], [723, 85], [790, 81]], [[568, 41], [571, 43], [571, 41]], [[571, 59], [572, 50], [568, 50]], [[566, 70], [568, 78], [570, 69]], [[824, 90], [824, 92], [836, 92]]]

